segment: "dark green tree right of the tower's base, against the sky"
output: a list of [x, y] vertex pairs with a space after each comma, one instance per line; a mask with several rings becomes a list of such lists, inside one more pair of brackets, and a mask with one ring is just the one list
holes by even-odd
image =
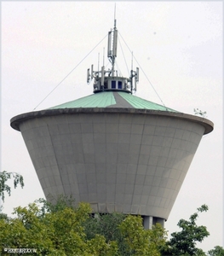
[[[208, 206], [203, 205], [198, 208], [198, 212], [207, 212]], [[196, 220], [198, 212], [193, 213], [189, 220], [181, 219], [178, 222], [181, 231], [171, 234], [170, 241], [167, 241], [167, 247], [163, 249], [163, 255], [174, 256], [203, 256], [205, 253], [196, 247], [197, 242], [202, 242], [210, 233], [205, 226], [198, 226]]]

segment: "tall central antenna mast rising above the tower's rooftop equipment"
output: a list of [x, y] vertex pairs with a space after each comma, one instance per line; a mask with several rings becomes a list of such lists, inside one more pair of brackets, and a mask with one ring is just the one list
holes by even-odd
[[107, 57], [109, 61], [112, 63], [112, 77], [114, 77], [114, 66], [115, 66], [115, 59], [117, 57], [117, 48], [118, 48], [118, 30], [116, 28], [116, 5], [114, 9], [114, 27], [113, 29], [108, 32], [108, 47], [107, 47]]

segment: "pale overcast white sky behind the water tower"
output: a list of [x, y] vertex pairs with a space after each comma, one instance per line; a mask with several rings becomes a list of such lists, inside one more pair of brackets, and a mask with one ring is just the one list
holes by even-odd
[[[133, 51], [134, 69], [140, 67], [136, 96], [159, 104], [162, 99], [183, 113], [199, 108], [215, 124], [199, 144], [165, 223], [172, 233], [179, 219], [207, 204], [209, 212], [198, 219], [210, 231], [199, 245], [204, 251], [223, 244], [222, 9], [222, 2], [215, 1], [116, 3], [118, 67], [129, 76], [123, 54], [130, 69]], [[9, 120], [37, 106], [40, 110], [92, 94], [86, 70], [91, 64], [98, 67], [99, 53], [103, 65], [113, 19], [114, 2], [2, 2], [1, 170], [25, 179], [24, 189], [6, 197], [4, 212], [44, 197], [21, 134]]]

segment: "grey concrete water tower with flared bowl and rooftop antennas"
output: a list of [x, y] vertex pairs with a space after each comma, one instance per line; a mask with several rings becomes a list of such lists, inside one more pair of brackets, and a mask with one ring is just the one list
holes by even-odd
[[115, 70], [118, 30], [108, 34], [111, 69], [87, 73], [94, 94], [11, 119], [21, 131], [43, 192], [87, 201], [93, 212], [139, 214], [150, 228], [169, 217], [203, 135], [204, 118], [133, 96]]

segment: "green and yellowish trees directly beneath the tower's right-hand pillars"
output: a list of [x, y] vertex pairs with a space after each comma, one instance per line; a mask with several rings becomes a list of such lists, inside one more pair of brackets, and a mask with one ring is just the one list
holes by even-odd
[[86, 236], [104, 236], [106, 242], [116, 241], [118, 255], [160, 255], [160, 247], [165, 245], [166, 232], [160, 224], [152, 230], [144, 230], [140, 216], [121, 213], [95, 214], [84, 223]]

